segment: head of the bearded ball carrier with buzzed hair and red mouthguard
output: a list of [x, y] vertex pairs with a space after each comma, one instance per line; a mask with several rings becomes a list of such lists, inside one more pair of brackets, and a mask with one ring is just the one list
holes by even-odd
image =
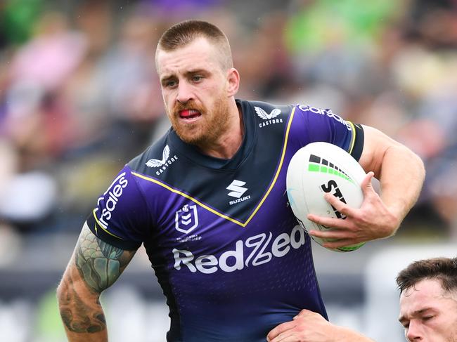
[[165, 110], [182, 140], [205, 145], [227, 131], [239, 74], [221, 29], [199, 20], [179, 22], [162, 34], [155, 64]]

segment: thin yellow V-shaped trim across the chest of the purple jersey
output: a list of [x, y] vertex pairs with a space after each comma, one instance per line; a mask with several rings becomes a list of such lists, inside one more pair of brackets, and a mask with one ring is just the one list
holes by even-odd
[[217, 216], [220, 216], [221, 218], [225, 218], [226, 220], [231, 221], [233, 223], [236, 223], [237, 225], [240, 225], [241, 227], [244, 228], [244, 227], [246, 227], [247, 223], [249, 223], [252, 220], [252, 218], [255, 216], [257, 211], [259, 211], [259, 209], [262, 206], [262, 204], [264, 204], [264, 202], [266, 200], [266, 197], [268, 197], [268, 195], [271, 192], [271, 189], [273, 189], [273, 186], [276, 183], [276, 180], [278, 180], [279, 173], [281, 172], [281, 168], [283, 167], [285, 150], [286, 150], [286, 147], [288, 145], [290, 125], [292, 124], [292, 119], [294, 117], [294, 114], [295, 114], [295, 107], [292, 109], [292, 112], [290, 113], [290, 119], [289, 119], [289, 122], [288, 122], [288, 126], [287, 126], [287, 129], [285, 130], [283, 152], [281, 152], [281, 159], [279, 161], [279, 166], [278, 166], [278, 169], [276, 170], [276, 174], [273, 177], [273, 182], [271, 182], [271, 185], [270, 185], [269, 189], [266, 191], [266, 194], [264, 195], [264, 197], [262, 197], [262, 199], [260, 200], [259, 204], [257, 204], [257, 207], [254, 209], [254, 211], [252, 211], [251, 215], [247, 218], [245, 223], [240, 222], [240, 221], [238, 221], [238, 220], [236, 220], [234, 218], [231, 218], [229, 216], [226, 216], [224, 213], [219, 213], [219, 211], [216, 211], [216, 210], [210, 208], [210, 206], [207, 206], [206, 204], [203, 204], [198, 199], [195, 199], [195, 198], [193, 198], [193, 197], [191, 197], [191, 196], [189, 196], [189, 195], [187, 195], [184, 192], [181, 192], [179, 190], [175, 190], [175, 189], [169, 187], [169, 185], [160, 182], [160, 180], [157, 180], [155, 178], [151, 178], [151, 177], [148, 177], [148, 176], [144, 176], [141, 173], [136, 173], [134, 171], [131, 171], [131, 174], [134, 175], [134, 176], [137, 176], [139, 178], [143, 178], [144, 180], [148, 180], [150, 182], [153, 182], [153, 183], [155, 183], [157, 185], [160, 185], [161, 187], [163, 187], [163, 188], [165, 188], [165, 189], [167, 189], [167, 190], [169, 190], [171, 192], [174, 192], [175, 194], [181, 195], [182, 197], [186, 197], [187, 199], [191, 199], [191, 201], [195, 202], [199, 206], [202, 206], [202, 208], [207, 209], [207, 211], [211, 211], [212, 213], [216, 214]]

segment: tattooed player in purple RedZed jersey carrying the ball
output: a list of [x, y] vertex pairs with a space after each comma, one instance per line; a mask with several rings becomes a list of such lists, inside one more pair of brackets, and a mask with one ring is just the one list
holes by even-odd
[[106, 341], [100, 294], [141, 244], [169, 305], [167, 341], [265, 341], [302, 309], [327, 319], [285, 192], [292, 155], [325, 141], [368, 172], [360, 209], [326, 197], [346, 220], [310, 216], [336, 228], [310, 232], [335, 239], [330, 248], [392, 236], [422, 187], [420, 158], [331, 110], [236, 99], [228, 40], [208, 22], [167, 29], [155, 62], [172, 128], [124, 166], [84, 223], [58, 287], [68, 339]]

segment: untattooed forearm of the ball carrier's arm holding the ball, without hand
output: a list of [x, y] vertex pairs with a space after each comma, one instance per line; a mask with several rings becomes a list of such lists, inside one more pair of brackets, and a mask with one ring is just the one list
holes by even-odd
[[411, 150], [402, 145], [387, 149], [380, 172], [380, 196], [398, 225], [416, 203], [424, 178], [424, 164]]

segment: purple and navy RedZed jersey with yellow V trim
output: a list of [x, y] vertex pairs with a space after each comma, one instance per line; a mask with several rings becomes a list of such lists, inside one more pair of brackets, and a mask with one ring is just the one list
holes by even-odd
[[359, 159], [363, 130], [307, 105], [237, 105], [245, 135], [232, 159], [200, 154], [170, 129], [120, 171], [88, 219], [105, 242], [146, 247], [167, 296], [167, 341], [263, 342], [304, 308], [327, 317], [285, 176], [314, 141]]

